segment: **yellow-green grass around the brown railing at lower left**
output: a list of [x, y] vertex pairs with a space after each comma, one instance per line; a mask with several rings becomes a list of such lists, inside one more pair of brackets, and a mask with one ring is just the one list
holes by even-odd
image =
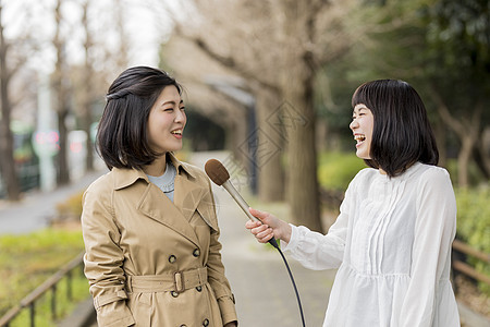
[[[0, 316], [83, 250], [79, 229], [49, 228], [24, 235], [0, 237]], [[63, 278], [56, 293], [58, 318], [69, 314], [77, 301], [89, 295], [87, 280], [79, 268], [73, 271], [73, 301], [68, 300], [66, 288], [68, 279]], [[56, 326], [51, 318], [51, 296], [52, 292], [48, 291], [36, 302], [36, 326]], [[11, 324], [13, 327], [28, 325], [28, 310], [23, 310]]]

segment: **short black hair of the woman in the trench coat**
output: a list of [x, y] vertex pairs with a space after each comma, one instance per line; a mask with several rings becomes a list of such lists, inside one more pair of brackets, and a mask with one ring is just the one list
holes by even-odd
[[181, 85], [167, 72], [133, 66], [112, 82], [97, 132], [97, 152], [109, 170], [143, 169], [161, 154], [148, 144], [147, 126], [151, 107], [164, 87]]

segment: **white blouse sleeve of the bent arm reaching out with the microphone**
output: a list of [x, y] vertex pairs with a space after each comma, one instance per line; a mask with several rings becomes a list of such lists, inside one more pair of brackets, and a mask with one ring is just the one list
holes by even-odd
[[283, 250], [305, 268], [322, 270], [339, 268], [344, 257], [347, 238], [348, 213], [352, 202], [353, 183], [345, 192], [340, 215], [327, 234], [309, 230], [304, 226], [293, 226], [290, 242]]

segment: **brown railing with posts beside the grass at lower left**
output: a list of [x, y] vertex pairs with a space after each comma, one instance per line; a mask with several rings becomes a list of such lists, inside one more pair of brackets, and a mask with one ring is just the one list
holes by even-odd
[[45, 293], [51, 290], [51, 317], [52, 319], [57, 318], [57, 286], [66, 277], [66, 298], [72, 300], [72, 271], [76, 267], [83, 268], [83, 255], [84, 253], [78, 254], [74, 259], [63, 266], [60, 270], [58, 270], [53, 276], [51, 276], [48, 280], [46, 280], [42, 284], [36, 288], [33, 292], [27, 294], [21, 303], [11, 308], [0, 318], [1, 327], [9, 327], [10, 323], [21, 313], [22, 310], [28, 307], [29, 310], [29, 318], [32, 327], [35, 327], [35, 316], [36, 316], [36, 301], [39, 300]]

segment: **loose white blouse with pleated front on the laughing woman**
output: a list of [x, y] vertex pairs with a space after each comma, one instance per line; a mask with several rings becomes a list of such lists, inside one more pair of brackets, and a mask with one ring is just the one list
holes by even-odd
[[328, 234], [292, 227], [284, 251], [306, 268], [339, 268], [323, 327], [460, 327], [456, 202], [444, 169], [418, 162], [391, 179], [363, 169]]

